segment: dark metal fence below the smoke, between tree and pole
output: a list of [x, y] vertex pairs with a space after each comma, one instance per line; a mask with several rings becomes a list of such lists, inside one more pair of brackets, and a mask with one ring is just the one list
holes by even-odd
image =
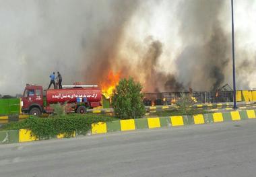
[[177, 102], [181, 94], [191, 95], [197, 99], [197, 103], [233, 102], [232, 91], [222, 92], [162, 92], [146, 93], [143, 103], [150, 105], [169, 105]]

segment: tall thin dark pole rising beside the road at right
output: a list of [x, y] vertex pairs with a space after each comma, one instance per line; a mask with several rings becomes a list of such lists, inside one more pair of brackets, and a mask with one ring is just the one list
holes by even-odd
[[234, 63], [234, 8], [233, 8], [233, 0], [231, 0], [231, 12], [232, 12], [232, 61], [233, 61], [233, 101], [234, 107], [236, 110], [236, 65]]

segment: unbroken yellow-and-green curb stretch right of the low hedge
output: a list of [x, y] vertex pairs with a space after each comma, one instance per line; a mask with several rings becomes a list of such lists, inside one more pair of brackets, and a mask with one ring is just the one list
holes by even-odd
[[224, 121], [236, 121], [256, 118], [255, 110], [217, 112], [197, 114], [193, 116], [169, 116], [154, 118], [137, 118], [129, 120], [114, 120], [98, 122], [92, 125], [92, 134], [110, 133], [115, 131], [133, 131], [136, 129], [156, 129], [162, 127], [178, 127], [184, 125], [201, 125]]

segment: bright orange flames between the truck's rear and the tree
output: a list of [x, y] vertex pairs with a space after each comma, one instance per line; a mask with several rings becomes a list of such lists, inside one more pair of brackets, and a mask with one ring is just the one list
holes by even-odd
[[110, 98], [113, 94], [115, 87], [119, 83], [119, 79], [120, 72], [115, 74], [113, 71], [109, 71], [107, 77], [100, 83], [102, 94], [106, 99]]

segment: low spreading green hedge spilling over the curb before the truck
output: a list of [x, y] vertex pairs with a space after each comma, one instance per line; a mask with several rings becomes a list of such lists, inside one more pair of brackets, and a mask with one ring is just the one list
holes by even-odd
[[74, 132], [85, 135], [92, 129], [92, 124], [117, 120], [116, 118], [95, 114], [68, 114], [60, 117], [30, 117], [21, 122], [12, 122], [3, 129], [30, 129], [38, 139], [49, 139], [63, 133], [71, 137]]

